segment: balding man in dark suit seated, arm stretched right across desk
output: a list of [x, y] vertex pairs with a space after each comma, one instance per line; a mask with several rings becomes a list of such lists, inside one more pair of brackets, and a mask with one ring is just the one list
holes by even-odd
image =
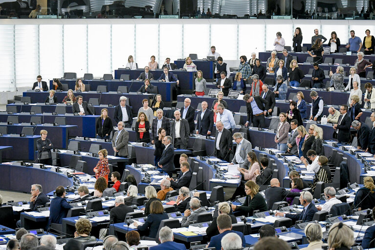
[[[267, 201], [267, 206], [265, 210], [271, 210], [273, 204], [275, 202], [282, 202], [287, 197], [294, 198], [299, 196], [300, 193], [297, 192], [289, 192], [285, 190], [284, 187], [280, 187], [279, 179], [273, 178], [270, 182], [271, 186], [265, 189], [265, 200]], [[262, 196], [263, 198], [263, 196]], [[312, 198], [311, 198], [312, 200]], [[302, 204], [302, 203], [301, 203]], [[254, 209], [256, 210], [256, 209]], [[264, 211], [265, 211], [264, 210]]]

